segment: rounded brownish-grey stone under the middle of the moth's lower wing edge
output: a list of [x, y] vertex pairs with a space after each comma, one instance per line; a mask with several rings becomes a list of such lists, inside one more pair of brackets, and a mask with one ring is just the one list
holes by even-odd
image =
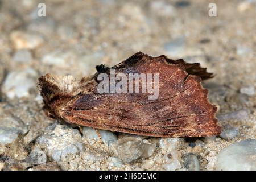
[[143, 142], [141, 138], [125, 137], [113, 143], [110, 152], [122, 162], [131, 163], [142, 156]]

